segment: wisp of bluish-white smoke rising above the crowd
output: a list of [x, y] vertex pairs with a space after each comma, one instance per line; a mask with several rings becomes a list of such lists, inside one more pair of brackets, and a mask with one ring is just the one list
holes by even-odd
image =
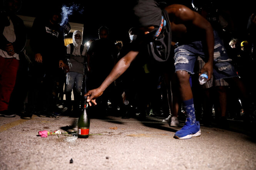
[[62, 20], [60, 22], [60, 25], [64, 25], [65, 23], [67, 23], [69, 20], [69, 16], [72, 15], [74, 11], [77, 11], [79, 13], [84, 12], [84, 7], [80, 9], [80, 6], [74, 3], [70, 7], [68, 7], [67, 5], [63, 5], [61, 9]]

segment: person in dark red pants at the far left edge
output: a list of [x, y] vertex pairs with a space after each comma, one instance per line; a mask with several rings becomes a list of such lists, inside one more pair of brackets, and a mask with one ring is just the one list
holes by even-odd
[[20, 54], [27, 42], [25, 25], [15, 15], [21, 3], [21, 0], [4, 0], [0, 12], [0, 116], [4, 117], [15, 117], [8, 110], [8, 105], [15, 86]]

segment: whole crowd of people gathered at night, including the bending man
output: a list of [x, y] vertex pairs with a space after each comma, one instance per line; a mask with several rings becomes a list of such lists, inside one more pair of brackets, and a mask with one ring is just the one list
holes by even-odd
[[[227, 127], [227, 117], [254, 119], [255, 89], [249, 82], [256, 54], [254, 14], [247, 36], [239, 40], [231, 33], [232, 21], [211, 1], [192, 1], [187, 7], [138, 0], [136, 22], [127, 31], [129, 43], [111, 40], [109, 28], [101, 26], [90, 46], [82, 44], [79, 30], [65, 46], [60, 8], [35, 18], [27, 38], [15, 15], [20, 6], [20, 0], [6, 0], [1, 12], [1, 116], [77, 117], [87, 101], [89, 112], [99, 116], [162, 115], [173, 127], [183, 116], [186, 122], [175, 133], [177, 139], [200, 136], [200, 124]], [[27, 39], [33, 56], [24, 50]], [[200, 85], [204, 71], [207, 83]], [[65, 102], [60, 103], [63, 94]]]

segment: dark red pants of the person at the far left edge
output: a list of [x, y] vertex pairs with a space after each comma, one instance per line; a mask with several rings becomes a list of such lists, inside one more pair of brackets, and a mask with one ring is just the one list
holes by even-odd
[[19, 64], [20, 62], [16, 58], [0, 56], [0, 111], [8, 109]]

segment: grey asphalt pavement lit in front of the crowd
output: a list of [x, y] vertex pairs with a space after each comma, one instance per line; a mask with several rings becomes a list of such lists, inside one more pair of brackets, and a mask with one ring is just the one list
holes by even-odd
[[[243, 121], [229, 120], [228, 130], [201, 125], [200, 137], [179, 140], [184, 121], [162, 119], [92, 117], [89, 138], [80, 139], [76, 117], [0, 117], [0, 170], [256, 169], [255, 131]], [[40, 137], [42, 130], [62, 134]]]

